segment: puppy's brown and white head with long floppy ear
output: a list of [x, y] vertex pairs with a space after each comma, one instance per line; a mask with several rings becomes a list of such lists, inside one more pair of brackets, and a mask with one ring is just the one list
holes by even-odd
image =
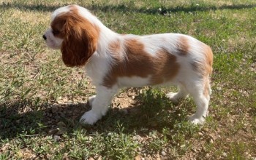
[[86, 18], [91, 13], [86, 13], [81, 15], [76, 5], [56, 9], [50, 28], [43, 35], [48, 47], [61, 49], [62, 60], [69, 67], [85, 65], [97, 49], [99, 28]]

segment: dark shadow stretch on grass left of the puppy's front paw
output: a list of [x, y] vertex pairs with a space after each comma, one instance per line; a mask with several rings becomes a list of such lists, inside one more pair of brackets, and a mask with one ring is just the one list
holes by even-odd
[[14, 138], [20, 135], [48, 135], [59, 121], [69, 121], [70, 126], [86, 110], [85, 104], [35, 105], [34, 101], [6, 102], [0, 106], [0, 138]]

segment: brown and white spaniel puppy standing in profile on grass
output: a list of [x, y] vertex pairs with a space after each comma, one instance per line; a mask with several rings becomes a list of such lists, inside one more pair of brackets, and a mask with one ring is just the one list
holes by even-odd
[[61, 49], [65, 65], [85, 67], [96, 86], [97, 95], [89, 97], [91, 110], [80, 123], [101, 119], [122, 87], [160, 84], [178, 86], [178, 92], [166, 95], [174, 103], [190, 94], [197, 109], [189, 121], [205, 123], [213, 53], [203, 42], [179, 33], [118, 34], [78, 5], [56, 9], [42, 37], [51, 49]]

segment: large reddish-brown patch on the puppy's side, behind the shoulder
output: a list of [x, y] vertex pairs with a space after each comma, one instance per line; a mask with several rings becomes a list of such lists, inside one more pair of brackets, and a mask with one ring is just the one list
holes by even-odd
[[[170, 81], [178, 73], [179, 65], [176, 57], [165, 49], [160, 50], [154, 57], [144, 50], [144, 45], [136, 39], [127, 39], [124, 42], [124, 52], [121, 52], [121, 44], [113, 42], [109, 48], [115, 62], [103, 81], [106, 87], [116, 84], [118, 77], [139, 76], [147, 78], [151, 76], [148, 85], [161, 84]], [[125, 54], [122, 57], [122, 54]]]

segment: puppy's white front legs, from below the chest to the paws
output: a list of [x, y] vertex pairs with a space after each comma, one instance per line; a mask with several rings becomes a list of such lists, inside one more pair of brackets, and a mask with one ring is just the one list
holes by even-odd
[[89, 98], [89, 104], [91, 110], [84, 113], [80, 119], [82, 124], [94, 124], [96, 121], [105, 116], [108, 111], [108, 105], [110, 105], [113, 96], [118, 91], [118, 87], [96, 87], [97, 95]]

